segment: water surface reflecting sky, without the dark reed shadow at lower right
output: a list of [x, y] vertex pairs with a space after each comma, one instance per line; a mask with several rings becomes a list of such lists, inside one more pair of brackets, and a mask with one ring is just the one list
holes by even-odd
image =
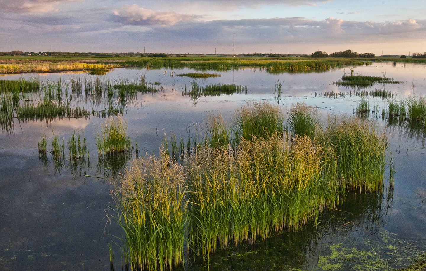
[[[189, 89], [192, 80], [188, 77], [176, 76], [176, 74], [191, 71], [193, 70], [176, 69], [173, 70], [174, 76], [172, 77], [170, 70], [164, 73], [164, 70], [117, 69], [103, 77], [137, 78], [140, 74], [146, 73], [148, 82], [159, 82], [160, 85], [156, 87], [163, 88], [158, 93], [138, 93], [132, 105], [128, 105], [126, 108], [127, 114], [124, 115], [124, 118], [127, 119], [128, 135], [132, 140], [138, 141], [139, 149], [142, 150], [139, 155], [158, 153], [164, 135], [170, 137], [173, 133], [176, 134], [176, 137], [187, 138], [187, 128], [194, 131], [195, 127], [202, 124], [209, 114], [220, 113], [225, 118], [229, 118], [234, 114], [236, 108], [246, 102], [276, 103], [273, 88], [277, 80], [284, 82], [279, 102], [283, 114], [286, 114], [286, 110], [293, 103], [305, 102], [317, 107], [325, 120], [328, 113], [352, 115], [357, 102], [360, 101], [357, 96], [349, 97], [347, 95], [343, 98], [320, 96], [320, 93], [325, 92], [353, 92], [354, 89], [331, 84], [332, 81], [339, 80], [344, 71], [346, 74], [350, 73], [349, 67], [323, 73], [270, 74], [259, 69], [217, 72], [222, 76], [199, 79], [199, 85], [242, 85], [248, 87], [248, 93], [199, 97], [196, 103], [189, 96], [182, 95], [185, 85]], [[386, 77], [406, 81], [404, 84], [384, 86], [386, 90], [392, 90], [398, 99], [412, 94], [423, 96], [426, 94], [426, 65], [373, 63], [371, 66], [354, 67], [354, 74], [383, 76], [384, 72], [386, 72]], [[32, 74], [8, 75], [2, 79], [34, 76]], [[37, 76], [42, 80], [58, 79], [58, 74], [54, 73]], [[63, 80], [71, 77], [69, 74], [60, 74], [60, 76]], [[86, 74], [80, 74], [80, 76], [82, 78], [91, 77]], [[368, 90], [380, 87], [382, 86], [377, 85]], [[370, 97], [368, 101], [371, 107], [376, 102], [380, 108], [387, 105], [386, 100], [378, 98]], [[91, 105], [87, 101], [75, 104], [79, 103], [83, 104], [85, 108], [93, 106], [97, 110], [104, 106], [103, 104]], [[37, 266], [43, 266], [45, 270], [109, 269], [108, 237], [105, 235], [104, 229], [109, 230], [112, 234], [119, 234], [118, 227], [114, 224], [105, 228], [107, 221], [104, 210], [111, 201], [110, 187], [104, 179], [84, 176], [104, 177], [97, 167], [98, 155], [93, 136], [103, 120], [97, 117], [90, 117], [90, 119], [65, 118], [47, 123], [40, 121], [19, 123], [15, 120], [14, 133], [3, 131], [0, 134], [0, 216], [2, 217], [0, 220], [2, 229], [0, 250], [4, 251], [0, 261], [1, 269], [13, 270], [28, 267], [33, 270], [37, 269]], [[380, 120], [379, 122], [380, 125], [386, 125]], [[66, 167], [68, 165], [66, 161], [63, 161], [65, 166], [62, 166], [60, 171], [55, 170], [55, 162], [50, 154], [48, 154], [49, 162], [46, 167], [38, 160], [37, 143], [43, 133], [48, 138], [52, 137], [52, 130], [55, 135], [59, 134], [60, 138], [65, 140], [75, 130], [85, 134], [90, 151], [90, 166], [84, 166], [78, 176], [73, 175], [69, 167]], [[327, 251], [329, 248], [325, 244], [328, 242], [344, 242], [350, 248], [362, 247], [362, 244], [366, 242], [363, 239], [372, 236], [383, 241], [381, 236], [384, 233], [396, 234], [396, 239], [404, 242], [415, 241], [414, 247], [420, 251], [426, 250], [424, 246], [426, 243], [424, 138], [410, 138], [404, 134], [404, 131], [397, 128], [387, 128], [386, 132], [389, 134], [389, 150], [394, 155], [397, 172], [391, 207], [380, 206], [380, 212], [384, 212], [383, 208], [386, 207], [383, 218], [369, 222], [372, 224], [377, 222], [380, 227], [375, 232], [371, 229], [364, 231], [368, 227], [359, 222], [352, 227], [329, 229], [328, 233], [325, 233], [325, 236], [320, 239], [318, 239], [318, 235], [314, 234], [316, 241], [312, 241], [311, 237], [307, 238], [311, 240], [310, 242], [318, 242], [315, 253]], [[135, 154], [132, 155], [135, 156]], [[335, 220], [331, 219], [334, 222], [339, 221], [342, 224], [347, 222], [343, 219], [344, 213], [334, 212], [331, 216], [334, 217]], [[366, 214], [357, 219], [365, 221]], [[343, 221], [345, 222], [343, 223]], [[306, 228], [309, 227], [312, 225], [309, 224]], [[310, 232], [311, 228], [302, 230], [300, 234], [305, 234], [304, 231]], [[288, 234], [293, 233], [282, 233], [282, 235]], [[297, 236], [297, 233], [294, 234]], [[310, 234], [313, 233], [310, 232], [308, 235], [311, 236]], [[292, 238], [301, 239], [302, 237]], [[380, 240], [377, 242], [382, 242]], [[243, 247], [240, 249], [245, 251]], [[259, 247], [263, 247], [260, 251], [271, 249], [267, 244], [258, 244], [255, 252], [259, 252], [257, 250]], [[289, 248], [292, 247], [282, 247], [284, 250]], [[363, 249], [368, 250], [368, 244]], [[245, 253], [249, 252], [250, 248], [245, 251]], [[230, 256], [232, 253], [227, 254], [226, 252], [219, 252], [217, 257], [220, 258], [222, 253], [228, 255], [224, 256], [225, 258], [232, 258]], [[328, 253], [331, 252], [328, 251]], [[319, 260], [311, 260], [309, 257], [302, 256], [303, 263], [299, 267], [315, 270], [313, 265], [318, 264]], [[218, 261], [219, 258], [217, 258]], [[223, 260], [222, 258], [220, 261]], [[116, 260], [120, 261], [118, 255]], [[264, 261], [268, 261], [268, 259], [265, 258]], [[279, 260], [271, 260], [271, 262], [275, 261]], [[315, 263], [316, 261], [317, 263]], [[266, 264], [270, 265], [271, 262], [266, 262]], [[285, 260], [282, 259], [282, 262]]]

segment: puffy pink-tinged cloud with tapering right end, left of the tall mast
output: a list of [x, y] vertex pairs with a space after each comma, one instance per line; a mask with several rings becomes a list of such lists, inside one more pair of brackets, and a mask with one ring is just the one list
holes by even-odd
[[174, 24], [199, 18], [198, 15], [188, 15], [176, 12], [153, 11], [144, 9], [136, 4], [124, 5], [120, 9], [114, 10], [116, 22], [136, 26], [173, 26]]

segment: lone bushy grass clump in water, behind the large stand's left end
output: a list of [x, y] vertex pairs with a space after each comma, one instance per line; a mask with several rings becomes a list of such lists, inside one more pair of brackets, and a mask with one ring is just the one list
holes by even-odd
[[127, 123], [120, 116], [102, 122], [101, 128], [101, 133], [96, 130], [98, 134], [95, 135], [100, 155], [130, 151], [132, 142], [127, 136]]

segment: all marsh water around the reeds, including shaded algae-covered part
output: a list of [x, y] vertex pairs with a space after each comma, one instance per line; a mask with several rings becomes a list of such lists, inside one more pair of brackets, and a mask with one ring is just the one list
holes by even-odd
[[[375, 85], [357, 89], [338, 87], [333, 81], [344, 73], [383, 76], [400, 84]], [[279, 104], [283, 114], [296, 102], [313, 105], [326, 120], [328, 114], [353, 115], [361, 90], [385, 89], [394, 99], [426, 95], [426, 65], [375, 63], [344, 67], [327, 72], [268, 73], [265, 70], [209, 72], [221, 76], [198, 79], [206, 85], [235, 84], [248, 88], [246, 93], [222, 96], [183, 95], [193, 79], [179, 74], [189, 69], [116, 69], [106, 75], [86, 73], [49, 73], [6, 75], [0, 79], [38, 78], [42, 82], [63, 82], [71, 78], [84, 81], [119, 81], [123, 78], [155, 83], [155, 93], [136, 93], [127, 98], [93, 97], [69, 93], [70, 105], [90, 112], [110, 106], [123, 112], [127, 134], [138, 143], [138, 155], [158, 154], [164, 137], [188, 137], [210, 114], [231, 117], [235, 110], [250, 102]], [[279, 99], [274, 95], [277, 81], [283, 82]], [[64, 90], [65, 91], [65, 90]], [[334, 96], [329, 93], [343, 93]], [[71, 99], [72, 97], [72, 99]], [[37, 100], [37, 97], [34, 98]], [[317, 221], [302, 230], [271, 233], [254, 244], [220, 248], [206, 259], [194, 258], [178, 267], [202, 270], [391, 270], [406, 267], [426, 251], [426, 149], [425, 133], [404, 125], [391, 125], [382, 118], [386, 99], [368, 96], [368, 118], [377, 122], [389, 137], [393, 157], [394, 185], [389, 186], [389, 169], [381, 193], [349, 193], [337, 210], [327, 210]], [[0, 269], [1, 270], [109, 270], [109, 242], [120, 242], [120, 228], [108, 221], [111, 205], [109, 178], [123, 170], [126, 157], [99, 159], [95, 134], [106, 117], [55, 118], [19, 121], [0, 133]], [[57, 163], [51, 154], [41, 159], [37, 143], [43, 134], [67, 138], [78, 131], [86, 138], [89, 159]], [[50, 148], [50, 142], [47, 148]], [[115, 268], [121, 268], [121, 255], [115, 250]]]

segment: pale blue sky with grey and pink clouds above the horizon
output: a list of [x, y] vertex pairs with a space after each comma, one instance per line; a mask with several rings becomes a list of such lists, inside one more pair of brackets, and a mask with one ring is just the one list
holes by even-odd
[[426, 1], [0, 0], [0, 51], [50, 46], [62, 52], [409, 55], [426, 51]]

